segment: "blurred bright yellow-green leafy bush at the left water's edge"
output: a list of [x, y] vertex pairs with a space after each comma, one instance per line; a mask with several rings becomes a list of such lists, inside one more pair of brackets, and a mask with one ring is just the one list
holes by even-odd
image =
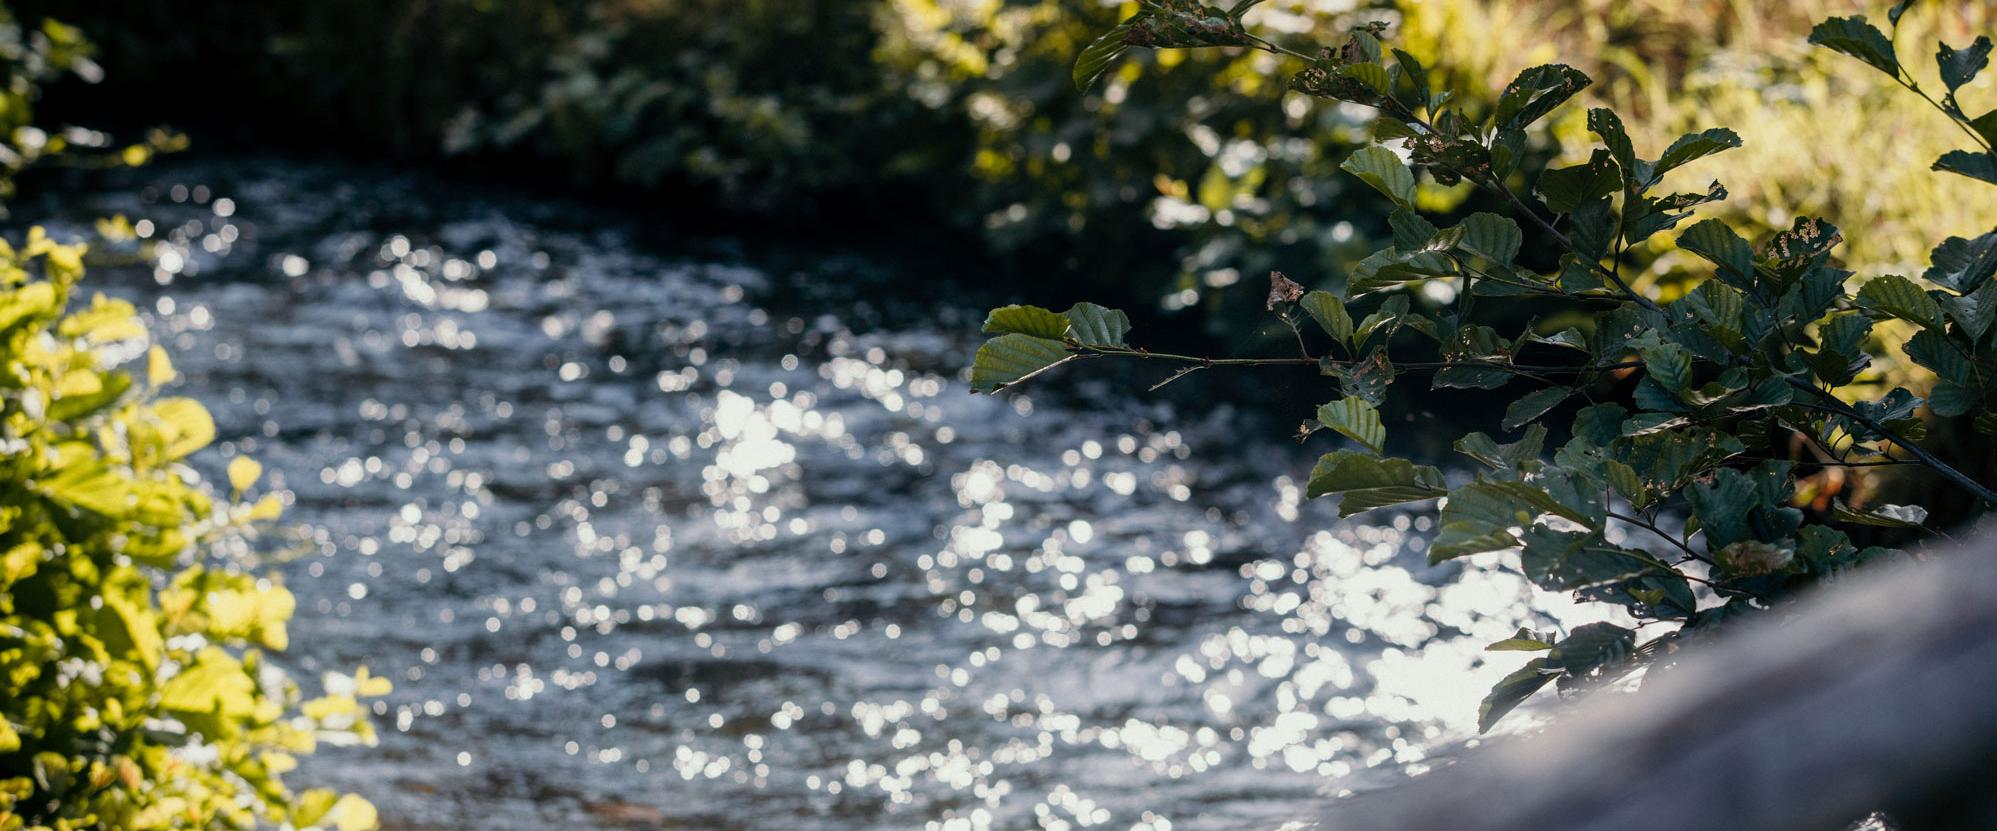
[[306, 699], [266, 651], [292, 593], [208, 555], [278, 515], [218, 499], [186, 459], [216, 427], [162, 396], [172, 360], [120, 300], [74, 304], [82, 246], [0, 240], [0, 831], [375, 825], [280, 779], [318, 741], [371, 743], [361, 695]]

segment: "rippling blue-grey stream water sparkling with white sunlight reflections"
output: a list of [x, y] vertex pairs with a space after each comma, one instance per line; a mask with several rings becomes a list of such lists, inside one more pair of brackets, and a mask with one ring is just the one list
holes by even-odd
[[216, 412], [200, 465], [290, 499], [286, 661], [395, 681], [379, 747], [290, 779], [389, 829], [1274, 829], [1456, 747], [1518, 663], [1484, 643], [1584, 619], [1164, 404], [1216, 374], [971, 396], [983, 310], [919, 266], [288, 160], [40, 220], [108, 214], [150, 260], [92, 284]]

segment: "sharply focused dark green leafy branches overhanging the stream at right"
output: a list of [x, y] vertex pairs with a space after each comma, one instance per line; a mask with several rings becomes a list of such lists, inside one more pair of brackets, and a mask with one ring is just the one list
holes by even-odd
[[[1150, 8], [1142, 14], [1156, 14]], [[1212, 32], [1300, 54], [1234, 26], [1228, 18]], [[1480, 711], [1486, 729], [1548, 683], [1582, 689], [1628, 675], [1689, 631], [1775, 607], [1813, 579], [1891, 557], [1889, 549], [1853, 545], [1841, 527], [1891, 529], [1901, 539], [1925, 531], [1919, 505], [1815, 499], [1819, 469], [1917, 463], [1997, 503], [1987, 485], [1919, 445], [1929, 419], [1963, 417], [1973, 429], [1997, 431], [1987, 416], [1997, 378], [1997, 232], [1941, 242], [1925, 284], [1887, 274], [1853, 292], [1851, 272], [1833, 262], [1843, 242], [1833, 222], [1797, 218], [1759, 248], [1719, 220], [1691, 222], [1677, 232], [1677, 246], [1707, 260], [1711, 276], [1660, 302], [1630, 288], [1622, 252], [1725, 198], [1719, 182], [1701, 194], [1654, 190], [1665, 172], [1737, 148], [1735, 132], [1695, 132], [1646, 158], [1622, 120], [1598, 108], [1588, 112], [1588, 128], [1602, 148], [1586, 164], [1528, 170], [1518, 154], [1524, 130], [1584, 90], [1586, 76], [1536, 66], [1496, 96], [1490, 116], [1474, 116], [1430, 90], [1426, 72], [1406, 56], [1384, 64], [1380, 34], [1366, 26], [1314, 50], [1318, 58], [1290, 82], [1310, 96], [1376, 108], [1390, 124], [1376, 134], [1404, 148], [1362, 148], [1340, 166], [1386, 196], [1392, 230], [1392, 244], [1354, 268], [1342, 296], [1306, 294], [1272, 274], [1268, 310], [1292, 328], [1304, 318], [1318, 322], [1330, 342], [1322, 356], [1310, 354], [1302, 330], [1300, 358], [1210, 360], [1144, 352], [1126, 346], [1120, 328], [1100, 336], [1076, 322], [1058, 340], [1038, 340], [1040, 352], [1028, 360], [1012, 352], [1024, 334], [993, 340], [973, 378], [1016, 380], [1020, 370], [1070, 356], [1170, 360], [1184, 366], [1180, 376], [1228, 364], [1316, 366], [1332, 388], [1316, 425], [1346, 445], [1318, 459], [1310, 497], [1340, 497], [1340, 515], [1446, 497], [1430, 561], [1518, 551], [1518, 567], [1546, 589], [1618, 605], [1642, 623], [1667, 623], [1648, 641], [1632, 627], [1592, 623], [1566, 637], [1522, 631], [1494, 643], [1498, 651], [1544, 655], [1492, 689]], [[1893, 42], [1865, 18], [1829, 20], [1811, 40], [1919, 92]], [[1987, 52], [1983, 38], [1941, 50], [1949, 96], [1937, 106], [1979, 150], [1949, 154], [1939, 168], [1997, 182], [1989, 142], [1953, 100]], [[1482, 188], [1512, 214], [1470, 214], [1454, 224], [1422, 218], [1422, 174]], [[1536, 182], [1544, 204], [1516, 194], [1520, 180]], [[1560, 250], [1558, 264], [1544, 256], [1520, 262], [1528, 230]], [[1458, 302], [1414, 312], [1406, 288], [1428, 282], [1450, 284]], [[1516, 316], [1482, 316], [1480, 298], [1516, 298], [1542, 320], [1582, 326], [1542, 332], [1532, 322], [1520, 330]], [[995, 320], [1000, 314], [1016, 316], [1008, 308]], [[1887, 322], [1895, 326], [1875, 328]], [[1911, 332], [1901, 346], [1933, 372], [1927, 396], [1851, 388], [1887, 332]], [[1480, 465], [1474, 479], [1448, 487], [1438, 467], [1388, 455], [1380, 406], [1406, 374], [1430, 374], [1430, 388], [1512, 390], [1496, 419], [1500, 437], [1470, 433], [1454, 443]], [[1568, 414], [1576, 398], [1600, 404]], [[1314, 429], [1306, 425], [1306, 435]], [[1562, 431], [1566, 441], [1550, 445]]]

